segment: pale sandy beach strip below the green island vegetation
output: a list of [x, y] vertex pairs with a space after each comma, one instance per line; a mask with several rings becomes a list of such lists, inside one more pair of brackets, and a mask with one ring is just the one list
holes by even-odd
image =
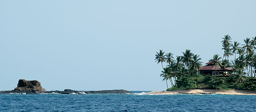
[[200, 93], [215, 93], [215, 94], [223, 94], [223, 95], [256, 95], [256, 91], [251, 90], [213, 90], [213, 89], [188, 89], [188, 90], [172, 90], [172, 91], [151, 91], [145, 94], [153, 94], [153, 95], [176, 95], [180, 93], [192, 93], [192, 94], [200, 94]]

